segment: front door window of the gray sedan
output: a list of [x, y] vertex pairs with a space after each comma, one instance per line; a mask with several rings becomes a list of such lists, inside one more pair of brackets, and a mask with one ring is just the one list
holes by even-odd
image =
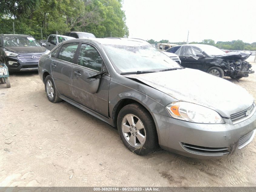
[[77, 64], [96, 71], [101, 70], [103, 60], [98, 51], [91, 45], [82, 44]]

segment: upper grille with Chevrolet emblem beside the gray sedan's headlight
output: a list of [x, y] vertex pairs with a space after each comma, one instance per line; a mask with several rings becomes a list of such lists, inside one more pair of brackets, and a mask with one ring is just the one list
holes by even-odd
[[256, 107], [255, 104], [252, 104], [248, 109], [245, 109], [239, 113], [235, 113], [230, 116], [231, 121], [233, 124], [240, 123], [244, 120], [249, 119], [255, 112]]

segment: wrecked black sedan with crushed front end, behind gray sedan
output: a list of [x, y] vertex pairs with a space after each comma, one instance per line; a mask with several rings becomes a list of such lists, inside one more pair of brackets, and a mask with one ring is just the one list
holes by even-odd
[[248, 53], [225, 53], [217, 47], [203, 44], [179, 45], [166, 52], [177, 54], [183, 67], [199, 69], [221, 78], [241, 79], [254, 73], [251, 64], [245, 61], [251, 55]]

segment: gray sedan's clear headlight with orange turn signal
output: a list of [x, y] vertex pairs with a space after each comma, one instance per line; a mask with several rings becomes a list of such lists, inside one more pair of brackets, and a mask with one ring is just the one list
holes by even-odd
[[175, 119], [194, 123], [224, 123], [219, 113], [194, 103], [173, 102], [165, 108]]

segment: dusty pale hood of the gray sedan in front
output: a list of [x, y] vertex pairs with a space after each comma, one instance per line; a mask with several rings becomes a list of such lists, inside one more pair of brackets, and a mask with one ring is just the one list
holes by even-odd
[[196, 69], [125, 76], [151, 86], [169, 96], [214, 109], [223, 117], [247, 109], [253, 97], [241, 86]]

